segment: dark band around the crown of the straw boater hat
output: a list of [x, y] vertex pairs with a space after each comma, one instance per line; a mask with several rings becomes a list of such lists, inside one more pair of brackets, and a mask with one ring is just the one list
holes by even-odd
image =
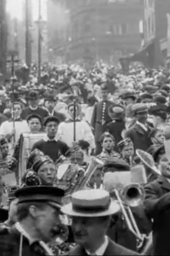
[[74, 211], [76, 212], [86, 212], [86, 213], [98, 213], [98, 212], [103, 212], [108, 210], [109, 206], [111, 204], [111, 199], [108, 201], [108, 203], [106, 205], [100, 206], [81, 206], [81, 205], [75, 205], [73, 204], [72, 208]]

